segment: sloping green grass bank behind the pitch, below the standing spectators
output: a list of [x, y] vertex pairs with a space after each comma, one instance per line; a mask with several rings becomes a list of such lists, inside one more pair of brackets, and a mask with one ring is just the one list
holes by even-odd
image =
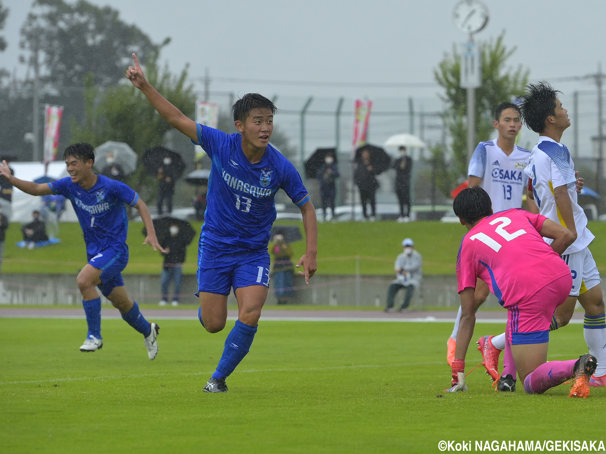
[[[298, 224], [301, 226], [301, 223]], [[199, 231], [201, 224], [193, 225]], [[142, 226], [142, 223], [131, 223], [128, 229], [130, 261], [124, 272], [159, 274], [162, 258], [149, 246], [142, 245]], [[591, 252], [598, 268], [606, 271], [606, 223], [591, 222], [589, 227], [596, 235]], [[392, 274], [393, 261], [401, 251], [401, 242], [405, 237], [415, 240], [424, 257], [425, 274], [454, 274], [456, 254], [465, 233], [461, 225], [439, 222], [321, 223], [318, 228], [319, 274], [355, 274], [356, 256], [360, 257], [361, 274]], [[11, 225], [7, 231], [2, 272], [77, 273], [86, 260], [80, 226], [77, 223], [62, 223], [61, 238], [63, 242], [59, 245], [33, 251], [19, 249], [15, 246], [21, 240], [19, 225]], [[295, 257], [301, 257], [305, 251], [305, 242], [294, 243], [293, 249]], [[196, 237], [188, 249], [184, 272], [195, 274], [197, 260]]]

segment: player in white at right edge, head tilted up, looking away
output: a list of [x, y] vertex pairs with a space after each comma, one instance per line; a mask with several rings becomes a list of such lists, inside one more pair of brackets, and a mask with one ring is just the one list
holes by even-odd
[[[530, 154], [525, 173], [530, 177], [528, 198], [534, 199], [539, 212], [554, 222], [568, 228], [576, 238], [562, 254], [570, 268], [573, 287], [565, 302], [559, 305], [552, 317], [550, 331], [568, 324], [578, 299], [585, 309], [584, 337], [590, 354], [598, 359], [598, 367], [590, 379], [590, 386], [606, 386], [606, 315], [602, 300], [601, 278], [591, 252], [587, 248], [594, 239], [587, 228], [587, 217], [577, 203], [582, 179], [577, 179], [574, 162], [568, 148], [562, 143], [562, 133], [570, 126], [567, 110], [558, 99], [559, 91], [544, 82], [529, 84], [527, 94], [520, 98], [520, 110], [524, 122], [536, 133], [539, 142]], [[550, 240], [545, 239], [550, 243]], [[484, 344], [482, 359], [487, 372], [498, 369], [499, 351], [494, 350], [493, 336], [480, 338]], [[488, 341], [488, 342], [486, 342]], [[504, 372], [497, 389], [514, 390], [516, 370], [505, 352]], [[509, 365], [508, 365], [509, 364]], [[506, 372], [505, 369], [508, 369]], [[509, 375], [507, 375], [509, 373]], [[493, 377], [494, 379], [494, 377]], [[508, 389], [501, 387], [501, 382]]]

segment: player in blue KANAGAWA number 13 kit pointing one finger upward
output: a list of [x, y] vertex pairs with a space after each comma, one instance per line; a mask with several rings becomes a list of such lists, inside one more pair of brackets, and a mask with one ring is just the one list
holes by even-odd
[[198, 316], [206, 331], [215, 333], [227, 321], [227, 296], [234, 289], [238, 320], [205, 392], [227, 392], [225, 378], [248, 353], [267, 298], [270, 257], [267, 244], [276, 220], [274, 197], [284, 189], [301, 209], [305, 254], [297, 263], [305, 282], [316, 272], [318, 225], [301, 176], [269, 144], [277, 109], [260, 94], [245, 94], [232, 107], [238, 133], [225, 134], [199, 125], [170, 104], [145, 80], [139, 61], [126, 77], [139, 88], [170, 125], [201, 145], [212, 160], [208, 205], [198, 254]]

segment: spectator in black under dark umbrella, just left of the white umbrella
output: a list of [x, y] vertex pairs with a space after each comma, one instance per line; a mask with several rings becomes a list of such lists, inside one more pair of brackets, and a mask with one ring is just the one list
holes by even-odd
[[[360, 191], [360, 202], [364, 220], [376, 219], [376, 190], [379, 182], [375, 176], [383, 173], [389, 167], [390, 157], [385, 150], [373, 145], [364, 145], [356, 150], [356, 171], [354, 180]], [[367, 203], [370, 203], [371, 215], [368, 217]]]

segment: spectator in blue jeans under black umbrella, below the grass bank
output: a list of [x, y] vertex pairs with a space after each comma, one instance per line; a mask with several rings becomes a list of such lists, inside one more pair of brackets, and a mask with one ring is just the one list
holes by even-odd
[[[162, 265], [162, 275], [160, 277], [160, 286], [162, 299], [160, 306], [168, 304], [168, 287], [170, 282], [175, 283], [173, 300], [171, 306], [179, 306], [179, 297], [181, 296], [181, 279], [183, 276], [183, 263], [187, 254], [187, 246], [196, 236], [196, 231], [187, 221], [176, 219], [174, 217], [162, 217], [153, 221], [158, 242], [164, 249], [164, 263]], [[147, 236], [147, 231], [143, 229], [143, 235]]]

